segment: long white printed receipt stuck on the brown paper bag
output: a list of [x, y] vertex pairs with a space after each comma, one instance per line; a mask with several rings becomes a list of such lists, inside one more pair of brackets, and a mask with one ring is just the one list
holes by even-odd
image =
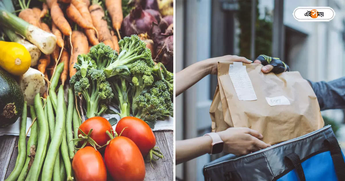
[[229, 66], [229, 76], [235, 88], [237, 98], [240, 101], [257, 100], [252, 81], [246, 71], [246, 66], [242, 62], [234, 62]]

